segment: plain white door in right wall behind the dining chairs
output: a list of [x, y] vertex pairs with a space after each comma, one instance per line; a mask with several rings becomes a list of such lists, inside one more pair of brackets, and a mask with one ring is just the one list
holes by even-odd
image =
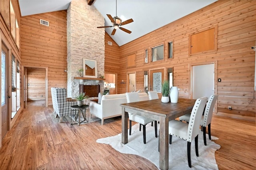
[[214, 94], [214, 64], [192, 66], [192, 99]]

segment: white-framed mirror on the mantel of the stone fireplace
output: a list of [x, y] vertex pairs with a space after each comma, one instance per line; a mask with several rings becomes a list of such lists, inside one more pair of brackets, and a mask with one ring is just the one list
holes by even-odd
[[97, 61], [83, 59], [84, 77], [97, 78]]

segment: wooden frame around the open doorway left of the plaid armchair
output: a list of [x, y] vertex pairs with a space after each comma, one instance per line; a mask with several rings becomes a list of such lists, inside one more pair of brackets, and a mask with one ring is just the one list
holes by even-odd
[[[24, 64], [24, 70], [26, 69], [26, 67], [29, 67], [29, 68], [44, 68], [45, 69], [45, 107], [48, 107], [48, 67], [44, 67], [44, 66], [32, 66], [32, 65], [28, 65], [28, 64]], [[27, 73], [27, 72], [26, 72]], [[24, 73], [24, 81], [27, 79], [27, 75]], [[26, 86], [27, 82], [24, 82], [24, 85], [23, 86]], [[25, 87], [24, 88], [24, 91], [23, 91], [23, 95], [24, 95], [24, 100], [26, 101], [27, 99], [27, 94], [25, 94], [27, 92], [27, 90], [25, 90]], [[26, 106], [24, 106], [26, 107]]]

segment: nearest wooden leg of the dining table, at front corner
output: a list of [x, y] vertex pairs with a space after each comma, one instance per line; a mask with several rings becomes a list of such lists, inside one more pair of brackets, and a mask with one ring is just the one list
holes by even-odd
[[159, 166], [161, 170], [168, 170], [169, 168], [169, 143], [168, 143], [168, 129], [169, 119], [160, 117], [160, 131], [159, 131]]

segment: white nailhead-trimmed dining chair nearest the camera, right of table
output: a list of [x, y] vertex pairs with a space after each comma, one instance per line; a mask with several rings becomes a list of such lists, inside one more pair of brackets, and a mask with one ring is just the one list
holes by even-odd
[[172, 144], [172, 136], [176, 136], [180, 139], [187, 141], [187, 156], [188, 166], [191, 168], [191, 142], [195, 139], [196, 156], [198, 154], [198, 134], [201, 117], [204, 111], [207, 97], [199, 98], [196, 100], [194, 107], [191, 111], [189, 123], [183, 123], [178, 120], [169, 121], [169, 143]]

